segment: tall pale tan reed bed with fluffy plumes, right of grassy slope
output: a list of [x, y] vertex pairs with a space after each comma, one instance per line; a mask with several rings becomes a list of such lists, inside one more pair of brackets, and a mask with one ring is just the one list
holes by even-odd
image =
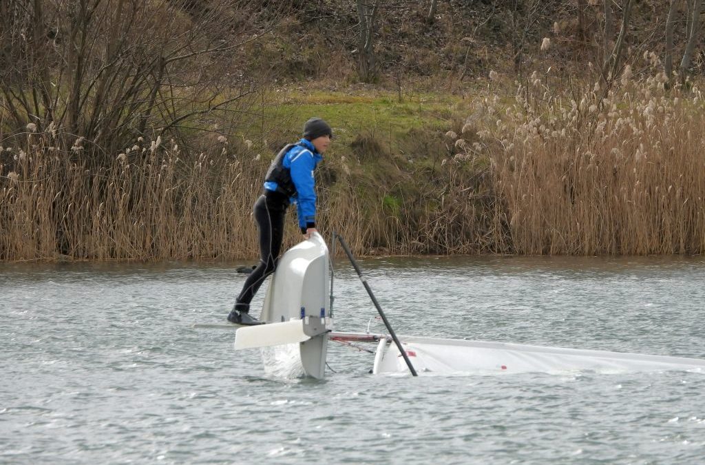
[[[481, 131], [515, 253], [705, 250], [701, 91], [662, 74], [618, 90], [553, 93], [534, 75]], [[577, 97], [575, 97], [577, 95]]]

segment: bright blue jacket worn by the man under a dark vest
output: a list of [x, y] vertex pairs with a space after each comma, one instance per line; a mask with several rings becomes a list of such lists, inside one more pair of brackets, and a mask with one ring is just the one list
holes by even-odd
[[[314, 227], [316, 224], [316, 191], [314, 191], [313, 171], [323, 157], [309, 140], [301, 139], [299, 144], [286, 152], [283, 166], [289, 169], [291, 180], [296, 187], [296, 194], [290, 200], [291, 203], [296, 203], [299, 227], [305, 231], [307, 227]], [[268, 191], [276, 191], [277, 184], [275, 181], [266, 181], [264, 188]]]

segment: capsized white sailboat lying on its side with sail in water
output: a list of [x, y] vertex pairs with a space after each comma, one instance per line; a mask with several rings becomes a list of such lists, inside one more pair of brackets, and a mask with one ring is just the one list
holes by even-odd
[[[383, 320], [386, 317], [362, 278]], [[297, 358], [311, 378], [325, 377], [329, 341], [376, 344], [372, 373], [457, 375], [492, 373], [599, 373], [691, 370], [705, 373], [705, 360], [624, 352], [565, 349], [560, 347], [403, 336], [387, 326], [389, 334], [333, 331], [329, 250], [314, 233], [282, 256], [264, 298], [266, 325], [241, 327], [235, 332], [235, 349], [298, 344]]]

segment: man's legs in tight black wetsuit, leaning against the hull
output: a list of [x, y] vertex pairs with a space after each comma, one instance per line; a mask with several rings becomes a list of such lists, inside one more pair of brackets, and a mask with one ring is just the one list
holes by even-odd
[[288, 199], [281, 195], [262, 195], [255, 202], [255, 222], [259, 229], [259, 265], [245, 280], [243, 290], [235, 303], [235, 310], [249, 311], [250, 302], [264, 279], [276, 270], [284, 236], [284, 215]]

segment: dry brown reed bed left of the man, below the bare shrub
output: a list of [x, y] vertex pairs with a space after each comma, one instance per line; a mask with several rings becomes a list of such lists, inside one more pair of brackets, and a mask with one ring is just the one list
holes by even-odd
[[4, 167], [1, 258], [252, 255], [255, 225], [243, 213], [259, 193], [262, 163], [228, 155], [225, 145], [217, 157], [189, 160], [178, 146], [157, 139], [137, 141], [108, 167], [92, 167], [80, 155], [80, 139], [71, 150], [52, 142], [47, 134], [30, 133], [32, 149], [19, 150]]

